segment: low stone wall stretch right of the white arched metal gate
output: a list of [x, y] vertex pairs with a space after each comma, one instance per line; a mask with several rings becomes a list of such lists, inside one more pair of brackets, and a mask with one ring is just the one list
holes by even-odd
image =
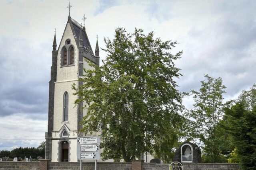
[[238, 164], [228, 163], [184, 163], [184, 170], [239, 170]]

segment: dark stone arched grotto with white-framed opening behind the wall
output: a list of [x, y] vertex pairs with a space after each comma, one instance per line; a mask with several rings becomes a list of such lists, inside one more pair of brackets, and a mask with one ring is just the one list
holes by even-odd
[[174, 153], [173, 162], [202, 162], [201, 149], [194, 143], [184, 142]]

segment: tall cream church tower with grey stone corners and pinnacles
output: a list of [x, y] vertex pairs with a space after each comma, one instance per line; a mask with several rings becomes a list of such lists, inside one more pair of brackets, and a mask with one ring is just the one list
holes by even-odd
[[98, 40], [94, 55], [85, 27], [69, 15], [58, 49], [55, 34], [52, 47], [46, 159], [77, 162], [76, 137], [82, 128], [80, 121], [86, 113], [81, 109], [82, 104], [74, 105], [78, 96], [73, 95], [71, 85], [82, 85], [78, 78], [83, 75], [84, 68], [95, 69], [89, 66], [88, 61], [99, 66]]

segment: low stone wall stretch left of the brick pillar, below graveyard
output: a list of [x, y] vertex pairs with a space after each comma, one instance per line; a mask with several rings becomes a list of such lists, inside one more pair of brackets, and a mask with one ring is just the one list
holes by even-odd
[[40, 170], [40, 162], [0, 162], [0, 170]]

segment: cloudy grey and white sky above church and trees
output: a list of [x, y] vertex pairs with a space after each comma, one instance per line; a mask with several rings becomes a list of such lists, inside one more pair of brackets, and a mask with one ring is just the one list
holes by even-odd
[[[255, 0], [70, 0], [70, 16], [82, 22], [93, 49], [104, 48], [114, 29], [135, 27], [177, 41], [173, 54], [183, 75], [180, 92], [198, 90], [204, 74], [221, 77], [225, 100], [249, 89], [256, 74]], [[52, 43], [68, 20], [68, 0], [0, 0], [0, 150], [37, 147], [48, 119]], [[106, 53], [100, 50], [100, 58]], [[100, 63], [102, 64], [102, 63]], [[183, 104], [192, 108], [193, 100]]]

